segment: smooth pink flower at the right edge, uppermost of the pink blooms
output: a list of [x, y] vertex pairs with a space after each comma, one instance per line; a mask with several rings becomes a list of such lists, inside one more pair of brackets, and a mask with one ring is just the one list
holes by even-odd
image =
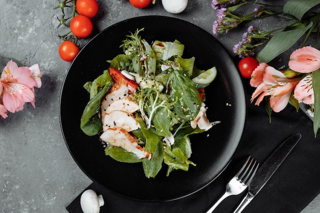
[[320, 68], [320, 51], [311, 46], [295, 50], [289, 61], [289, 67], [299, 73], [310, 73]]

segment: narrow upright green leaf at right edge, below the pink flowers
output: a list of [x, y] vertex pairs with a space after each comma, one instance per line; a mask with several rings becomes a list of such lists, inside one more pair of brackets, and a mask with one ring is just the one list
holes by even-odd
[[320, 69], [312, 72], [312, 87], [314, 91], [313, 132], [316, 136], [320, 127]]

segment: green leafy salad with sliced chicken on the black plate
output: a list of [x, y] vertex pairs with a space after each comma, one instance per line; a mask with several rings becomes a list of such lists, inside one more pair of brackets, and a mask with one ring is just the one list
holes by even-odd
[[167, 165], [188, 171], [191, 134], [211, 129], [204, 88], [217, 75], [215, 67], [198, 69], [195, 58], [182, 58], [184, 44], [175, 40], [149, 44], [136, 30], [127, 36], [110, 67], [84, 88], [90, 99], [81, 116], [81, 130], [99, 135], [105, 154], [127, 163], [142, 162], [154, 178]]

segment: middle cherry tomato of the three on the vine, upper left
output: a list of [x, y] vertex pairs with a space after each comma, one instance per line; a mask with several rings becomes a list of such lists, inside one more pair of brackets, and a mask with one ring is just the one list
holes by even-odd
[[70, 29], [78, 38], [85, 38], [92, 32], [93, 24], [88, 17], [77, 15], [70, 21]]

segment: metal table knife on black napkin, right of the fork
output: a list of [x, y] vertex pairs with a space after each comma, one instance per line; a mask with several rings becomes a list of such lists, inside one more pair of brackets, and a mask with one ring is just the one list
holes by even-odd
[[243, 198], [234, 213], [240, 213], [254, 197], [260, 192], [261, 188], [268, 182], [271, 176], [280, 167], [281, 163], [289, 155], [291, 150], [301, 139], [300, 133], [295, 133], [286, 139], [270, 157], [263, 163], [257, 171], [252, 181], [249, 183], [247, 195]]

